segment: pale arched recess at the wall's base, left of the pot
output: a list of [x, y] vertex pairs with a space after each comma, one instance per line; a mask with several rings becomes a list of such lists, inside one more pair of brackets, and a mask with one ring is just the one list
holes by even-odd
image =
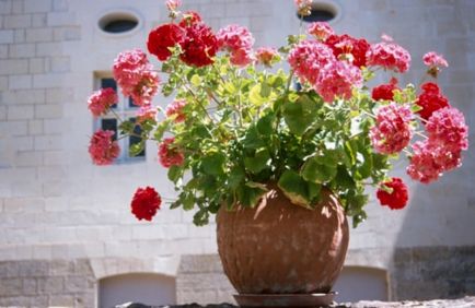
[[99, 307], [114, 308], [125, 303], [176, 304], [175, 279], [158, 274], [124, 274], [99, 281]]

